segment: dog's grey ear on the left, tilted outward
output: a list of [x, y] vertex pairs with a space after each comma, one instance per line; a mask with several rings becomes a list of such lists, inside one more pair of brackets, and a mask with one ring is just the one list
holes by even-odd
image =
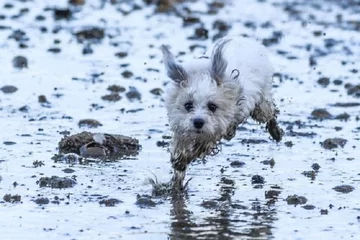
[[181, 65], [175, 62], [175, 58], [172, 55], [172, 53], [169, 51], [169, 49], [167, 49], [167, 47], [162, 45], [161, 51], [163, 53], [163, 60], [168, 77], [179, 84], [183, 81], [186, 81], [188, 75], [185, 69]]

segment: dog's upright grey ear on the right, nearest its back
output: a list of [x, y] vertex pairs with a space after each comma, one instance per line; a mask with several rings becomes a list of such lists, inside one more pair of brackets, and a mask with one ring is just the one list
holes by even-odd
[[223, 55], [224, 47], [229, 41], [230, 39], [226, 39], [216, 44], [211, 56], [211, 77], [215, 80], [218, 86], [221, 85], [225, 77], [227, 61]]

